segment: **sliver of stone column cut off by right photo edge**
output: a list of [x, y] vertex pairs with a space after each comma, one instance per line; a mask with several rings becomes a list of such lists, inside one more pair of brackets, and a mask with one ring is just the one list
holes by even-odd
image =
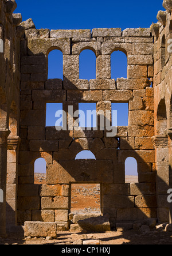
[[[167, 131], [169, 135], [169, 188], [172, 189], [172, 127]], [[172, 223], [172, 203], [170, 206], [170, 224]]]

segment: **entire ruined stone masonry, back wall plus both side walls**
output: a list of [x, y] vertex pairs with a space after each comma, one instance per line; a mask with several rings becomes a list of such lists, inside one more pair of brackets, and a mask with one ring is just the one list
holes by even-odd
[[[171, 180], [171, 1], [151, 28], [36, 29], [32, 19], [13, 14], [15, 1], [0, 0], [1, 118], [0, 235], [25, 221], [64, 224], [69, 228], [72, 183], [100, 184], [101, 214], [116, 222], [157, 218], [169, 221], [167, 190]], [[63, 80], [48, 80], [48, 55], [63, 54]], [[96, 55], [96, 79], [81, 80], [83, 50]], [[127, 78], [111, 79], [111, 54], [127, 56]], [[153, 85], [153, 86], [151, 86]], [[128, 103], [128, 126], [115, 137], [107, 131], [57, 131], [46, 127], [46, 103], [73, 111], [79, 103]], [[73, 119], [73, 122], [75, 119]], [[91, 150], [96, 160], [75, 160]], [[46, 184], [34, 184], [34, 162], [46, 161]], [[138, 163], [139, 183], [125, 183], [125, 161]], [[7, 172], [6, 172], [7, 170]], [[6, 182], [7, 176], [7, 182]], [[7, 207], [5, 206], [7, 202]], [[6, 207], [6, 209], [5, 209]], [[6, 213], [5, 213], [6, 211]], [[171, 211], [172, 212], [172, 211]], [[3, 221], [2, 221], [3, 220]]]

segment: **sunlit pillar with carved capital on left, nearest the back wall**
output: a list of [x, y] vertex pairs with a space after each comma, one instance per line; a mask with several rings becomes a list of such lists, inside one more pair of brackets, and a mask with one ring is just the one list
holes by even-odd
[[6, 185], [6, 225], [17, 225], [17, 185], [18, 185], [18, 136], [7, 138], [7, 185]]

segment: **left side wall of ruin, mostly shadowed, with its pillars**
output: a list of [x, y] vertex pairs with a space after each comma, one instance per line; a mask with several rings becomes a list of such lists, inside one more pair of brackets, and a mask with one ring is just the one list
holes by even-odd
[[0, 1], [0, 235], [17, 224], [21, 14], [15, 1]]

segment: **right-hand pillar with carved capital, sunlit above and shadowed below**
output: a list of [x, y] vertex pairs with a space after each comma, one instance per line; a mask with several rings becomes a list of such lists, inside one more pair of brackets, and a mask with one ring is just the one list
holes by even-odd
[[157, 214], [158, 221], [169, 221], [169, 204], [167, 190], [169, 189], [169, 148], [167, 135], [153, 137], [155, 148], [155, 167], [157, 170]]

